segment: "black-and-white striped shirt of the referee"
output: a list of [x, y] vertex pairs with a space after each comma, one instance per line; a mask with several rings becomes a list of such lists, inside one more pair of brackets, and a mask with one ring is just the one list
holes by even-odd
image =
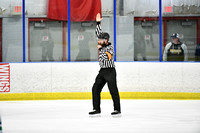
[[[97, 22], [97, 26], [96, 26], [96, 35], [97, 37], [99, 37], [99, 35], [102, 33], [101, 30], [101, 25], [100, 22]], [[106, 54], [106, 52], [109, 52], [112, 55], [112, 58], [109, 60], [108, 55]], [[111, 45], [110, 42], [108, 42], [108, 45], [105, 47], [102, 47], [101, 49], [99, 49], [99, 65], [101, 68], [114, 68], [115, 64], [114, 64], [114, 56], [115, 56], [115, 52], [114, 52], [114, 48]]]

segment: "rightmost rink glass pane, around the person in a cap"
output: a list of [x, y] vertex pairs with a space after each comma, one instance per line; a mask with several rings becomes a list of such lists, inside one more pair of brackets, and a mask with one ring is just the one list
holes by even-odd
[[197, 61], [195, 51], [200, 43], [199, 0], [162, 0], [163, 50], [173, 33], [187, 46], [188, 61]]

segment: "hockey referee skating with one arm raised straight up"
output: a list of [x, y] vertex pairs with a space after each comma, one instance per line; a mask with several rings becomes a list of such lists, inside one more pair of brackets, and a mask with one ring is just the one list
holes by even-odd
[[92, 101], [93, 101], [93, 111], [89, 112], [89, 115], [96, 115], [101, 113], [100, 109], [100, 100], [101, 100], [101, 91], [104, 85], [107, 83], [108, 89], [112, 96], [114, 103], [114, 112], [111, 115], [121, 114], [120, 109], [120, 97], [117, 88], [116, 81], [116, 70], [114, 64], [114, 49], [111, 43], [109, 42], [109, 34], [101, 31], [101, 22], [102, 18], [100, 13], [96, 16], [97, 27], [96, 35], [98, 37], [97, 48], [99, 50], [99, 65], [100, 71], [95, 79], [95, 83], [92, 87]]

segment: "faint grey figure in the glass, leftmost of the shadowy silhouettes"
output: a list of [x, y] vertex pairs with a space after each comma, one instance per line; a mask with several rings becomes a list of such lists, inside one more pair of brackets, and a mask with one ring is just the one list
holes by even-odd
[[42, 30], [40, 38], [41, 38], [40, 46], [42, 47], [42, 61], [47, 61], [47, 58], [49, 59], [49, 61], [54, 61], [53, 59], [54, 43], [48, 27]]

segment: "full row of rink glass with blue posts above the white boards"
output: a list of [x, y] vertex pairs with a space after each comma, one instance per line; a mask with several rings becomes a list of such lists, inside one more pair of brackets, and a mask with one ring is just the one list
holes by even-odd
[[[200, 43], [199, 0], [101, 2], [102, 30], [110, 34], [115, 61], [162, 61], [172, 33], [181, 35], [181, 41], [188, 48], [188, 61], [198, 61], [195, 51]], [[1, 62], [98, 60], [95, 21], [49, 20], [48, 0], [0, 0], [0, 7]], [[45, 35], [44, 30], [49, 33]], [[49, 41], [50, 47], [45, 49], [42, 41], [43, 44]]]

